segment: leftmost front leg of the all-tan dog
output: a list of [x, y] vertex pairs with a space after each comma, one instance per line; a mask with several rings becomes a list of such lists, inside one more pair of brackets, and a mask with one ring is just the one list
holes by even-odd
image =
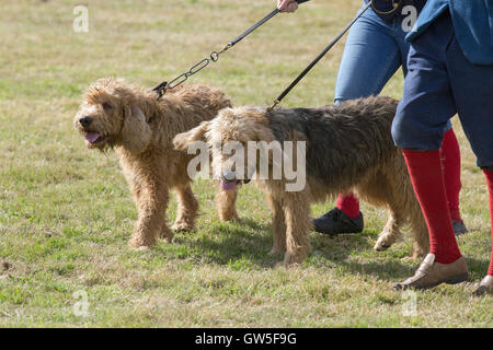
[[167, 225], [169, 192], [165, 184], [147, 184], [136, 196], [138, 220], [128, 245], [142, 249], [156, 244], [157, 237], [171, 242], [172, 231]]

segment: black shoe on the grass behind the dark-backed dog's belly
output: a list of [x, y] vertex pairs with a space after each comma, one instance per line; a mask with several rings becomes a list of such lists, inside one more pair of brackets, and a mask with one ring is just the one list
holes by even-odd
[[347, 214], [334, 208], [331, 211], [324, 213], [318, 219], [312, 219], [313, 228], [317, 232], [325, 234], [340, 234], [340, 233], [360, 233], [363, 232], [363, 213], [356, 218], [349, 218]]

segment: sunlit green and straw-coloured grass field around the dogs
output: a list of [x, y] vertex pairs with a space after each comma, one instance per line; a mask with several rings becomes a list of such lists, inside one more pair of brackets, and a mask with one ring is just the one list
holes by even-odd
[[[221, 223], [206, 180], [194, 184], [202, 209], [195, 231], [149, 252], [127, 248], [136, 209], [114, 154], [87, 150], [73, 129], [81, 92], [107, 75], [146, 86], [174, 78], [274, 2], [84, 0], [89, 33], [72, 30], [77, 1], [2, 7], [0, 327], [493, 326], [493, 299], [471, 296], [490, 258], [486, 187], [457, 120], [461, 208], [471, 231], [458, 241], [469, 283], [392, 291], [419, 261], [401, 260], [411, 250], [409, 238], [372, 250], [386, 213], [366, 205], [363, 234], [312, 233], [313, 252], [300, 267], [274, 269], [280, 257], [267, 255], [270, 211], [262, 194], [245, 186], [238, 203], [242, 222]], [[279, 15], [192, 82], [222, 89], [236, 105], [271, 103], [359, 5], [312, 1]], [[330, 103], [342, 49], [340, 43], [284, 104]], [[400, 97], [401, 75], [383, 94]], [[313, 206], [312, 214], [332, 205]], [[174, 211], [173, 201], [170, 220]]]

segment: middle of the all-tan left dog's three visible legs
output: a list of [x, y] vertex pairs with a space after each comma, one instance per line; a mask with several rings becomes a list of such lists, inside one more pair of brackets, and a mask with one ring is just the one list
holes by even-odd
[[176, 213], [176, 220], [174, 221], [174, 231], [190, 231], [195, 226], [195, 220], [197, 219], [198, 201], [192, 192], [190, 183], [175, 188], [179, 207]]

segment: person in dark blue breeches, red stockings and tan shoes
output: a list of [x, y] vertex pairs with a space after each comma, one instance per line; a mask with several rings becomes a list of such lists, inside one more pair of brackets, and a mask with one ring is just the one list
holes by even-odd
[[[439, 151], [444, 126], [456, 113], [486, 179], [493, 226], [492, 23], [491, 0], [428, 0], [406, 37], [409, 73], [392, 137], [402, 148], [431, 248], [415, 275], [395, 284], [397, 290], [428, 289], [468, 278], [450, 224]], [[474, 294], [492, 291], [493, 246], [486, 276]]]

